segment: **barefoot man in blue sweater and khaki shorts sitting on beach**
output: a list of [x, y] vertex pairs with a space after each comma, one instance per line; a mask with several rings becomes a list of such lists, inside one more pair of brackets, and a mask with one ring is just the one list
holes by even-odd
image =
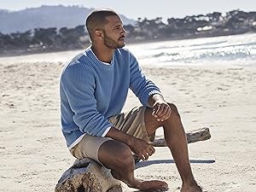
[[[134, 177], [132, 154], [154, 154], [149, 137], [163, 126], [167, 146], [183, 180], [182, 192], [199, 192], [189, 165], [187, 140], [177, 108], [146, 79], [125, 46], [123, 23], [113, 10], [96, 9], [86, 20], [91, 46], [61, 73], [61, 125], [76, 158], [89, 157], [111, 169], [113, 177], [140, 190], [167, 189], [163, 181]], [[120, 113], [129, 88], [143, 107]]]

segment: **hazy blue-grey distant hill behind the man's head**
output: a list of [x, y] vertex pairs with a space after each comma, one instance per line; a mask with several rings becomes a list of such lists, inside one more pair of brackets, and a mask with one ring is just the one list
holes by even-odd
[[[84, 25], [86, 15], [92, 9], [79, 6], [42, 6], [39, 8], [9, 11], [0, 9], [0, 32], [26, 32], [34, 28], [75, 27]], [[121, 15], [124, 25], [135, 24], [135, 20]]]

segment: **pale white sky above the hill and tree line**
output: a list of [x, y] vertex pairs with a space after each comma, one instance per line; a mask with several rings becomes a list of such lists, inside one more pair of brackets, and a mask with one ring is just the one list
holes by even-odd
[[230, 10], [256, 11], [255, 0], [0, 0], [0, 9], [20, 10], [41, 5], [79, 5], [85, 8], [109, 8], [130, 19], [146, 17], [183, 18], [186, 15], [208, 14]]

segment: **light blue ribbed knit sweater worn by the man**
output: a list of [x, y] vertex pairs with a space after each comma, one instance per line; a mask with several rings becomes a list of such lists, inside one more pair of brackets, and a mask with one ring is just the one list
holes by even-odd
[[129, 88], [144, 106], [160, 89], [146, 79], [134, 55], [115, 49], [111, 65], [96, 58], [90, 47], [67, 63], [61, 73], [61, 125], [67, 147], [84, 133], [103, 137], [109, 117], [124, 107]]

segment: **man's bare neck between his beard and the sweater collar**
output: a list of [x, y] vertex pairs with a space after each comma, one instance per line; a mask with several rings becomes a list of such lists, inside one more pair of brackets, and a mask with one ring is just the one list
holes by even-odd
[[98, 58], [98, 60], [102, 62], [111, 63], [114, 49], [109, 49], [105, 47], [99, 48], [95, 45], [91, 45], [91, 49], [93, 53], [96, 55], [96, 57]]

